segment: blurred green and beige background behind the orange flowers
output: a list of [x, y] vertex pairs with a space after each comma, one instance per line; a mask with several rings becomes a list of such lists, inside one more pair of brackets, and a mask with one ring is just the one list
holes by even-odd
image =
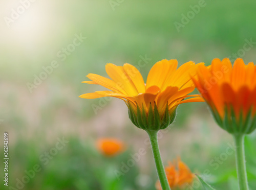
[[[109, 62], [138, 65], [146, 60], [140, 68], [144, 80], [162, 59], [207, 65], [216, 57], [256, 62], [255, 1], [29, 2], [0, 3], [0, 132], [2, 145], [4, 132], [9, 134], [10, 158], [9, 186], [1, 180], [0, 189], [155, 189], [146, 133], [132, 125], [121, 100], [79, 99], [102, 89], [81, 81], [88, 73], [106, 77]], [[106, 158], [95, 148], [100, 137], [122, 139], [127, 150]], [[68, 143], [47, 157], [45, 152], [63, 138]], [[165, 165], [180, 156], [217, 189], [236, 190], [234, 154], [226, 154], [232, 141], [205, 103], [188, 103], [179, 106], [175, 123], [159, 144]], [[256, 134], [248, 135], [251, 189], [256, 189], [255, 144]], [[140, 148], [146, 154], [117, 178], [114, 171], [122, 171]], [[3, 148], [0, 153], [3, 158]], [[40, 171], [25, 179], [35, 165]], [[18, 182], [23, 178], [24, 185]], [[186, 189], [201, 189], [193, 185]]]

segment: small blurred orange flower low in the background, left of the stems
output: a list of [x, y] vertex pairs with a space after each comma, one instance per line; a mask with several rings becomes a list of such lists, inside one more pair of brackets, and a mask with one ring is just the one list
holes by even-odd
[[105, 156], [115, 156], [125, 150], [123, 142], [115, 138], [100, 138], [96, 145]]

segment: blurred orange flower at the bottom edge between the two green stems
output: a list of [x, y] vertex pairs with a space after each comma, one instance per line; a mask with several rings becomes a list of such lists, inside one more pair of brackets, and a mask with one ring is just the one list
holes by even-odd
[[[178, 163], [177, 163], [178, 162]], [[165, 167], [165, 173], [170, 188], [183, 188], [184, 186], [191, 184], [195, 175], [191, 173], [187, 165], [178, 158], [178, 161], [174, 160], [174, 164], [169, 162], [168, 167]], [[176, 169], [177, 168], [177, 169]], [[160, 182], [157, 181], [156, 188], [162, 190]]]

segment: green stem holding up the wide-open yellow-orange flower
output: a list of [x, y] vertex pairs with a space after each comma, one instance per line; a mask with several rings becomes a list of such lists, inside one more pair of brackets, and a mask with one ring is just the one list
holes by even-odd
[[160, 151], [159, 151], [159, 146], [157, 141], [158, 131], [147, 130], [146, 132], [148, 136], [150, 136], [150, 142], [151, 142], [152, 151], [153, 151], [153, 155], [156, 163], [157, 174], [158, 174], [158, 178], [161, 183], [162, 189], [170, 190], [170, 186], [164, 171], [163, 162], [162, 162]]

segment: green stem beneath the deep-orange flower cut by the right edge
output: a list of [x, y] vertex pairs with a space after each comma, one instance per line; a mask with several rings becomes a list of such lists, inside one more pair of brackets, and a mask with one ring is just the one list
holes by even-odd
[[244, 155], [244, 134], [234, 134], [236, 143], [237, 175], [240, 190], [249, 190]]

